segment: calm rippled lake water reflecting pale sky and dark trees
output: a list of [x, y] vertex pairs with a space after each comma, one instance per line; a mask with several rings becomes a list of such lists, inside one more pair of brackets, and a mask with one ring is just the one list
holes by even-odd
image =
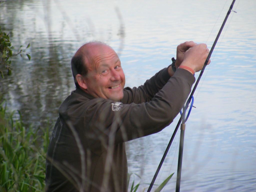
[[[30, 43], [31, 60], [13, 59], [12, 76], [0, 79], [0, 93], [26, 123], [53, 125], [75, 89], [71, 57], [85, 42], [113, 47], [126, 86], [139, 86], [170, 65], [180, 43], [193, 40], [211, 48], [231, 2], [2, 1], [2, 30], [15, 48]], [[194, 94], [180, 191], [256, 191], [256, 1], [237, 0], [233, 10]], [[160, 133], [127, 143], [129, 172], [141, 177], [133, 175], [140, 191], [148, 188], [178, 119]], [[155, 182], [175, 173], [164, 191], [175, 190], [179, 134]]]

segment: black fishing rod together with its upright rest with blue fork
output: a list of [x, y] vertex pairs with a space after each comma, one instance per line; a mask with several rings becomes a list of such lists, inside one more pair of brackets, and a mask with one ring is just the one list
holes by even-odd
[[[217, 34], [217, 37], [216, 37], [216, 39], [215, 39], [215, 41], [214, 41], [214, 43], [213, 43], [213, 45], [212, 45], [212, 47], [211, 47], [211, 50], [209, 51], [209, 54], [208, 54], [208, 56], [207, 56], [207, 58], [206, 58], [206, 60], [205, 60], [204, 66], [203, 66], [203, 68], [202, 68], [202, 70], [201, 70], [201, 72], [200, 72], [200, 74], [199, 74], [199, 77], [198, 77], [198, 79], [197, 79], [197, 81], [196, 81], [196, 83], [195, 83], [195, 86], [194, 86], [194, 88], [193, 88], [191, 94], [190, 94], [190, 97], [188, 98], [186, 105], [183, 107], [182, 115], [181, 115], [181, 117], [180, 117], [180, 119], [179, 119], [179, 121], [178, 121], [178, 123], [177, 123], [177, 126], [176, 126], [176, 128], [175, 128], [175, 130], [174, 130], [174, 132], [173, 132], [172, 137], [170, 138], [170, 141], [169, 141], [169, 143], [168, 143], [168, 145], [167, 145], [167, 148], [166, 148], [166, 150], [165, 150], [165, 152], [164, 152], [164, 155], [163, 155], [163, 157], [162, 157], [162, 159], [161, 159], [161, 161], [160, 161], [160, 163], [159, 163], [159, 166], [157, 167], [156, 173], [155, 173], [155, 175], [154, 175], [154, 177], [153, 177], [153, 179], [152, 179], [152, 182], [151, 182], [151, 184], [150, 184], [150, 186], [149, 186], [147, 192], [150, 192], [150, 191], [151, 191], [151, 189], [152, 189], [152, 187], [153, 187], [153, 185], [154, 185], [154, 182], [155, 182], [155, 180], [156, 180], [156, 177], [157, 177], [157, 175], [158, 175], [158, 173], [159, 173], [159, 171], [160, 171], [160, 168], [161, 168], [162, 165], [163, 165], [164, 159], [165, 159], [165, 157], [166, 157], [166, 155], [167, 155], [167, 153], [168, 153], [168, 151], [169, 151], [169, 149], [170, 149], [170, 146], [171, 146], [171, 144], [172, 144], [172, 142], [173, 142], [173, 139], [174, 139], [174, 137], [175, 137], [175, 135], [176, 135], [176, 133], [177, 133], [177, 131], [178, 131], [178, 128], [179, 128], [179, 126], [180, 126], [180, 124], [181, 124], [181, 122], [182, 122], [182, 124], [181, 124], [181, 126], [180, 126], [180, 146], [179, 146], [179, 158], [178, 158], [178, 170], [177, 170], [176, 192], [179, 192], [179, 190], [180, 190], [180, 179], [181, 179], [181, 167], [182, 167], [182, 156], [183, 156], [183, 145], [184, 145], [185, 122], [186, 122], [187, 119], [188, 119], [188, 116], [189, 116], [189, 113], [190, 113], [191, 108], [192, 108], [192, 106], [193, 106], [193, 103], [191, 103], [191, 105], [190, 105], [190, 109], [189, 109], [189, 113], [187, 114], [187, 117], [186, 117], [185, 113], [186, 113], [186, 110], [187, 110], [188, 105], [189, 105], [189, 103], [191, 102], [191, 100], [192, 100], [192, 102], [194, 101], [193, 95], [194, 95], [194, 93], [195, 93], [195, 90], [196, 90], [196, 88], [197, 88], [197, 86], [198, 86], [198, 83], [199, 83], [201, 77], [202, 77], [202, 74], [204, 73], [205, 67], [207, 66], [207, 63], [208, 63], [208, 61], [209, 61], [209, 59], [210, 59], [210, 57], [211, 57], [211, 54], [212, 54], [212, 52], [213, 52], [213, 50], [214, 50], [214, 48], [215, 48], [215, 45], [217, 44], [217, 41], [218, 41], [218, 39], [219, 39], [219, 37], [220, 37], [221, 31], [222, 31], [222, 29], [223, 29], [223, 27], [224, 27], [226, 21], [227, 21], [227, 19], [228, 19], [228, 16], [229, 16], [229, 14], [231, 13], [231, 10], [232, 10], [232, 8], [233, 8], [233, 5], [234, 5], [235, 1], [236, 1], [236, 0], [233, 0], [232, 3], [231, 3], [231, 5], [230, 5], [230, 7], [229, 7], [228, 13], [227, 13], [227, 15], [226, 15], [226, 17], [225, 17], [225, 19], [224, 19], [224, 21], [223, 21], [221, 27], [220, 27], [220, 30], [219, 30], [219, 32], [218, 32], [218, 34]], [[234, 11], [234, 12], [235, 12], [235, 11]], [[235, 12], [235, 13], [236, 13], [236, 12]]]

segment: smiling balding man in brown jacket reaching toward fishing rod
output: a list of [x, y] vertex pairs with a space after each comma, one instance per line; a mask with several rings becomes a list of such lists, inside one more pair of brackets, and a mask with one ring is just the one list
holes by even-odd
[[110, 46], [80, 47], [71, 60], [76, 90], [61, 104], [49, 143], [46, 191], [127, 191], [124, 142], [173, 121], [208, 53], [205, 44], [180, 44], [172, 67], [131, 89]]

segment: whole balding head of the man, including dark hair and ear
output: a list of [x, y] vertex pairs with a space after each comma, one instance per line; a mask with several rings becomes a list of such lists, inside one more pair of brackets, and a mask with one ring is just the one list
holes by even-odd
[[101, 42], [80, 47], [71, 60], [76, 86], [94, 98], [120, 101], [125, 75], [116, 52]]

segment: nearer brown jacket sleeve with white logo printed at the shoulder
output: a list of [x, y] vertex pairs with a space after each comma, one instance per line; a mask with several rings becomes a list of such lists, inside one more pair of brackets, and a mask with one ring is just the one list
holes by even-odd
[[190, 72], [178, 69], [149, 102], [123, 104], [95, 99], [84, 115], [91, 150], [161, 131], [182, 109], [194, 82]]

